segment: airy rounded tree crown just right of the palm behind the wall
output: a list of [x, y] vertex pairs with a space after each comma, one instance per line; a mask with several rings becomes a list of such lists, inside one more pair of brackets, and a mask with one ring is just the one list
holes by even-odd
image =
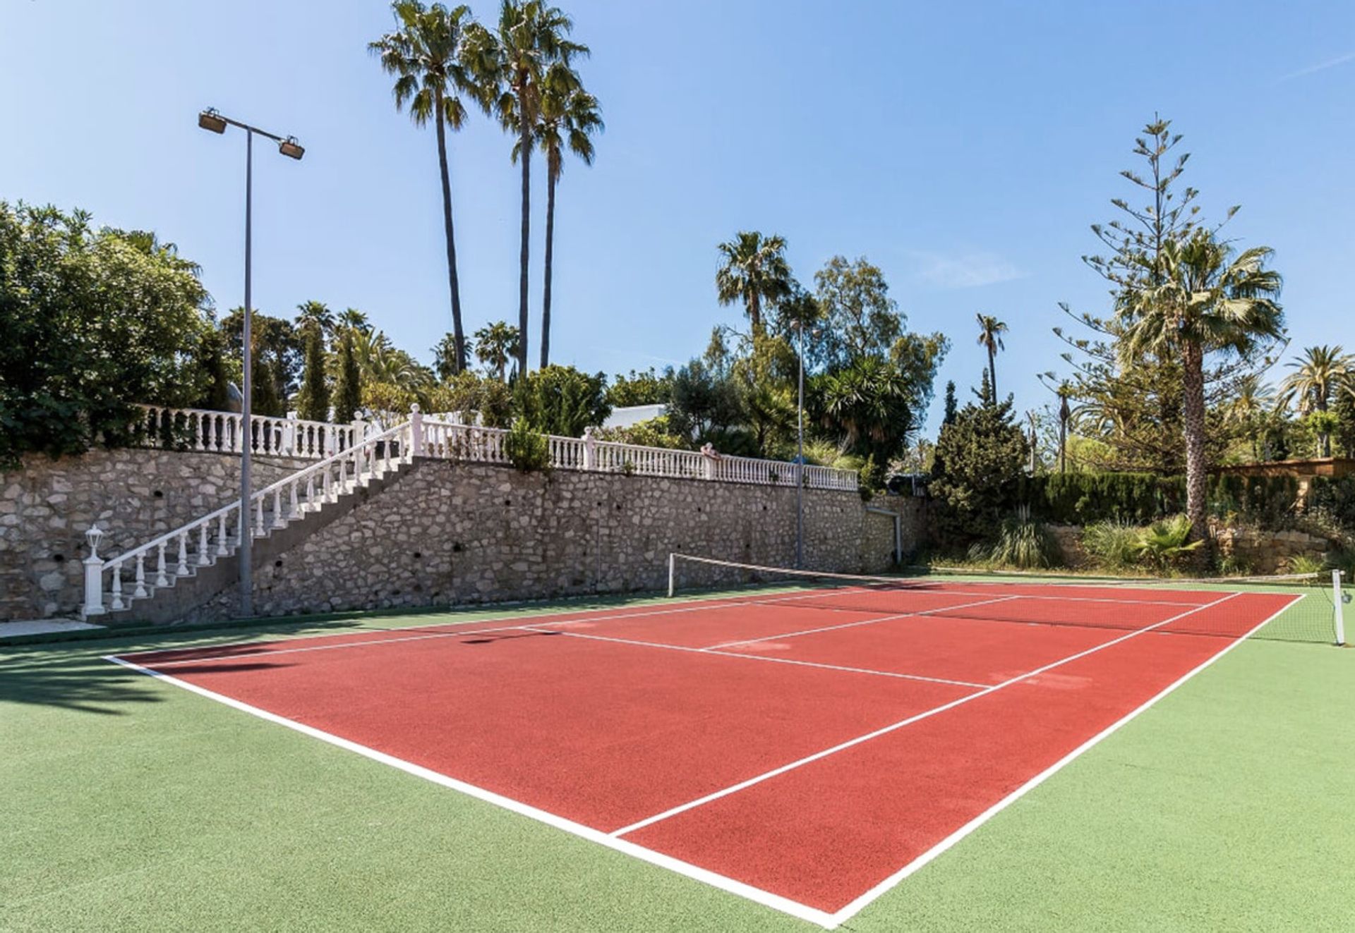
[[844, 256], [829, 259], [814, 272], [814, 298], [824, 320], [818, 344], [828, 368], [883, 356], [904, 332], [885, 274], [864, 256], [854, 263]]

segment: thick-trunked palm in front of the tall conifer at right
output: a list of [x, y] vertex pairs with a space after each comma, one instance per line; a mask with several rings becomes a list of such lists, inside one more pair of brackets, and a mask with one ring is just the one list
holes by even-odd
[[1150, 269], [1152, 284], [1126, 291], [1117, 314], [1125, 325], [1121, 363], [1177, 359], [1182, 366], [1182, 420], [1186, 433], [1186, 512], [1196, 539], [1209, 536], [1205, 519], [1205, 356], [1247, 355], [1264, 340], [1279, 340], [1285, 314], [1276, 298], [1280, 276], [1266, 268], [1272, 251], [1236, 253], [1209, 230], [1168, 240]]

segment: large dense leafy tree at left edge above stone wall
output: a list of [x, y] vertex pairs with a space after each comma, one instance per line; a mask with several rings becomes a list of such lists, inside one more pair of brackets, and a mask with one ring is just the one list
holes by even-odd
[[134, 402], [187, 406], [211, 383], [196, 264], [154, 234], [0, 202], [0, 463], [134, 439]]

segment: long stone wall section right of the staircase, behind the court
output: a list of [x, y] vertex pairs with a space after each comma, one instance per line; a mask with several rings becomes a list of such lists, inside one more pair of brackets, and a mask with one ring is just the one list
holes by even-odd
[[[904, 515], [916, 547], [920, 502], [873, 500]], [[879, 571], [893, 520], [859, 493], [805, 490], [805, 565]], [[450, 605], [661, 590], [671, 551], [791, 566], [795, 490], [421, 460], [390, 489], [255, 571], [257, 615]], [[743, 573], [683, 567], [679, 586], [734, 584]], [[188, 620], [237, 615], [221, 593]]]

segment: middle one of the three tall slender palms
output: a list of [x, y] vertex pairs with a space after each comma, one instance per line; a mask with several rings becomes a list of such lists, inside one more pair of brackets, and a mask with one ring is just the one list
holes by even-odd
[[[531, 240], [531, 135], [542, 111], [546, 76], [568, 72], [588, 46], [573, 42], [573, 20], [542, 0], [503, 0], [493, 32], [476, 26], [467, 35], [467, 61], [480, 87], [480, 103], [516, 133], [522, 164], [522, 238], [518, 251], [518, 371], [527, 371], [527, 244]], [[558, 76], [557, 79], [558, 80]], [[570, 72], [577, 85], [577, 76]]]

